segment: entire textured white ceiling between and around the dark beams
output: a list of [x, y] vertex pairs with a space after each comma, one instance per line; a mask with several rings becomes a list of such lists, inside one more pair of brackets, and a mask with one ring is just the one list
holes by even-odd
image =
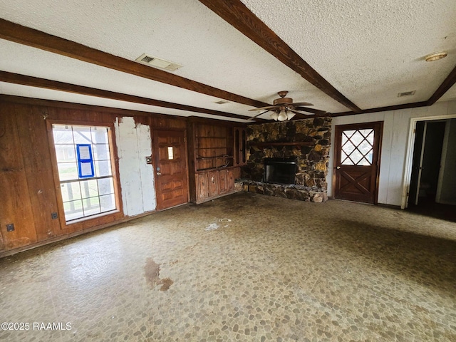
[[[244, 0], [326, 81], [361, 109], [425, 101], [456, 66], [456, 1]], [[134, 61], [147, 53], [173, 74], [272, 103], [279, 90], [331, 113], [341, 103], [285, 66], [196, 0], [0, 0], [1, 19]], [[445, 50], [441, 61], [424, 56]], [[254, 115], [253, 107], [0, 39], [0, 71]], [[416, 90], [413, 97], [399, 92]], [[174, 115], [214, 115], [0, 83], [0, 93]], [[456, 98], [453, 86], [442, 100]], [[267, 114], [264, 117], [267, 118]], [[227, 119], [232, 120], [232, 119]]]

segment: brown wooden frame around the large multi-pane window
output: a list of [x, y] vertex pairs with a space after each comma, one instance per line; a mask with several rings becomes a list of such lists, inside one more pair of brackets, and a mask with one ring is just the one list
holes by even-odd
[[[79, 120], [46, 120], [49, 140], [49, 152], [51, 153], [51, 162], [53, 169], [53, 179], [56, 190], [56, 199], [58, 204], [58, 219], [61, 224], [61, 229], [65, 228], [68, 232], [76, 232], [82, 229], [88, 229], [91, 227], [97, 227], [102, 224], [108, 224], [124, 217], [123, 206], [122, 206], [122, 195], [120, 188], [119, 178], [119, 163], [118, 163], [118, 152], [117, 145], [115, 142], [114, 123], [103, 123], [103, 122], [92, 122], [92, 121], [79, 121]], [[63, 197], [61, 192], [61, 182], [58, 175], [58, 163], [56, 156], [56, 147], [53, 138], [53, 125], [68, 125], [68, 126], [88, 126], [88, 127], [108, 127], [108, 141], [110, 145], [110, 162], [111, 169], [113, 172], [113, 186], [114, 186], [114, 197], [115, 207], [117, 209], [94, 214], [88, 217], [81, 217], [79, 219], [73, 219], [70, 222], [66, 222], [65, 210], [63, 208]], [[112, 147], [112, 148], [111, 148]]]

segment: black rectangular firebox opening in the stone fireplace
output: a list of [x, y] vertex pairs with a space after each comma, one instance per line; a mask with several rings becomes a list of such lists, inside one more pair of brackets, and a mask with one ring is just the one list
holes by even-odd
[[266, 183], [294, 185], [296, 180], [295, 158], [264, 158], [264, 177]]

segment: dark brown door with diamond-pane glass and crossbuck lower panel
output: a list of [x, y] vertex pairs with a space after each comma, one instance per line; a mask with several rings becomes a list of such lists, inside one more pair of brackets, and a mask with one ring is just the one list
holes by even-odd
[[383, 123], [336, 126], [334, 197], [377, 203]]

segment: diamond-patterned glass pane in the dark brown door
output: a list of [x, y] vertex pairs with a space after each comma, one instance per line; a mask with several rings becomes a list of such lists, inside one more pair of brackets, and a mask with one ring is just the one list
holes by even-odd
[[372, 165], [373, 129], [342, 132], [342, 165]]

